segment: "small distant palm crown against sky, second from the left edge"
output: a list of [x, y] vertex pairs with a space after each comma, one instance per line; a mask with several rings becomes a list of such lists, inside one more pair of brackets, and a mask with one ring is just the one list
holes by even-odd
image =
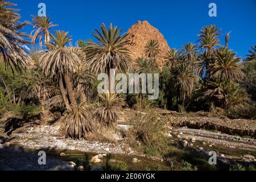
[[51, 22], [51, 18], [48, 16], [34, 16], [32, 15], [32, 22], [28, 22], [32, 24], [33, 28], [36, 28], [35, 30], [31, 31], [32, 36], [32, 42], [36, 43], [39, 40], [39, 45], [43, 46], [43, 38], [44, 38], [44, 44], [47, 44], [50, 42], [51, 37], [53, 36], [50, 32], [52, 27], [58, 26], [57, 24], [53, 24]]

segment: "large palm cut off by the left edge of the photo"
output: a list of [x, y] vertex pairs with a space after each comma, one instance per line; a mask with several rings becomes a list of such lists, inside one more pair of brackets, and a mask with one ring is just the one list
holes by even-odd
[[30, 42], [23, 39], [28, 38], [27, 34], [19, 32], [26, 24], [19, 23], [20, 15], [9, 6], [16, 5], [0, 1], [0, 53], [5, 64], [14, 72], [14, 69], [21, 71], [30, 63], [31, 59], [26, 52], [26, 44]]

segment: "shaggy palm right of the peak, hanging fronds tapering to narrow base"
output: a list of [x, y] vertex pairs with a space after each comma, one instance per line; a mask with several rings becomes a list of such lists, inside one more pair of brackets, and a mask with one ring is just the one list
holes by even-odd
[[178, 64], [172, 71], [172, 78], [181, 106], [184, 107], [186, 98], [191, 98], [196, 78], [191, 64], [185, 62]]

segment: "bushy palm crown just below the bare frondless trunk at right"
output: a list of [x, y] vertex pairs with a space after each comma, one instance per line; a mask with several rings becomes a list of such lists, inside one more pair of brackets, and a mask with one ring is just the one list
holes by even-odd
[[210, 78], [219, 80], [241, 81], [243, 78], [241, 57], [236, 57], [227, 47], [216, 49], [215, 61], [210, 64]]

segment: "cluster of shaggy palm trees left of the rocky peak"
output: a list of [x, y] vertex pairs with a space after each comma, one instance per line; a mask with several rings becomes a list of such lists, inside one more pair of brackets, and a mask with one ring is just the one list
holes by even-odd
[[[67, 137], [86, 138], [97, 129], [97, 120], [108, 126], [117, 121], [124, 105], [122, 98], [110, 92], [99, 95], [101, 107], [95, 110], [88, 97], [97, 73], [109, 75], [111, 69], [117, 72], [129, 69], [130, 52], [125, 47], [127, 41], [126, 35], [121, 35], [122, 29], [112, 24], [107, 28], [102, 24], [101, 31], [96, 29], [92, 34], [97, 43], [90, 42], [83, 48], [71, 47], [68, 44], [72, 37], [68, 32], [55, 31], [55, 35], [52, 34], [51, 29], [57, 25], [49, 17], [32, 16], [31, 22], [18, 24], [19, 14], [7, 7], [14, 4], [0, 3], [0, 51], [3, 60], [16, 70], [30, 65], [24, 76], [27, 81], [20, 98], [37, 98], [44, 116], [49, 114], [51, 107], [63, 106]], [[18, 31], [26, 24], [33, 27], [31, 35]], [[23, 40], [22, 36], [31, 38], [31, 41]], [[28, 43], [39, 43], [39, 51], [28, 55], [23, 49]]]

